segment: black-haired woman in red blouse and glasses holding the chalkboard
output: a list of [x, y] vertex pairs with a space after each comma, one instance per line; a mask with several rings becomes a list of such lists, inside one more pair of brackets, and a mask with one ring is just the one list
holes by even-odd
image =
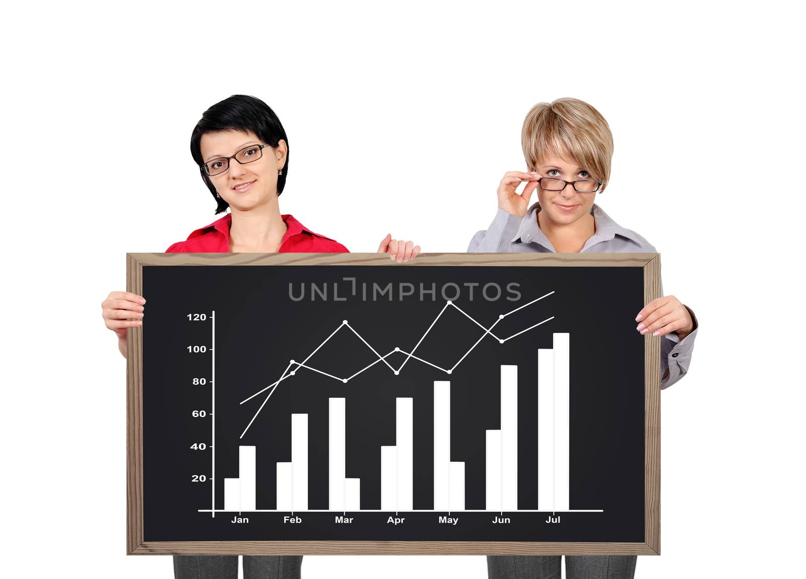
[[[278, 197], [289, 172], [289, 139], [264, 101], [234, 95], [210, 107], [193, 129], [190, 153], [224, 217], [193, 231], [167, 252], [301, 252], [342, 253], [347, 248], [315, 234], [292, 215], [280, 213]], [[378, 253], [398, 263], [420, 252], [420, 246], [387, 235]], [[118, 336], [127, 354], [128, 328], [143, 324], [143, 296], [111, 292], [101, 304], [106, 327]], [[243, 556], [243, 576], [300, 577], [301, 556]], [[238, 577], [238, 556], [174, 556], [174, 577]]]

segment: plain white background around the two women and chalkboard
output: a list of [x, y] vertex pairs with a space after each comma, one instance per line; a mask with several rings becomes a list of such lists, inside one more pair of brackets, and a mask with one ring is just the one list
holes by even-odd
[[[6, 576], [172, 575], [170, 557], [124, 555], [125, 362], [100, 304], [125, 289], [127, 251], [214, 221], [189, 135], [234, 93], [267, 101], [289, 134], [283, 213], [354, 252], [387, 233], [466, 250], [503, 173], [524, 167], [530, 106], [596, 106], [615, 137], [596, 202], [658, 248], [665, 291], [701, 325], [690, 373], [662, 395], [663, 556], [640, 557], [636, 577], [804, 576], [800, 14], [19, 5], [3, 9], [0, 40]], [[486, 577], [484, 565], [306, 556], [303, 574]]]

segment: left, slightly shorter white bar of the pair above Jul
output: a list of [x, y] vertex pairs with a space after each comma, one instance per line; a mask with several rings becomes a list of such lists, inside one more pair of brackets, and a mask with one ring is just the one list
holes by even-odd
[[555, 511], [554, 350], [538, 348], [538, 511]]

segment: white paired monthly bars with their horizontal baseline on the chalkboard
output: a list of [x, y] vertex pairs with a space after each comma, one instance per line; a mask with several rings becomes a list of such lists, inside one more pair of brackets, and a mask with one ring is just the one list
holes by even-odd
[[[570, 335], [553, 334], [554, 347], [538, 349], [538, 488], [537, 509], [526, 512], [602, 512], [570, 508], [569, 482], [569, 364]], [[256, 447], [239, 446], [239, 477], [224, 479], [223, 509], [202, 512], [415, 512], [521, 511], [518, 508], [518, 367], [501, 366], [501, 428], [486, 430], [484, 509], [465, 508], [465, 463], [451, 461], [451, 381], [434, 387], [434, 502], [418, 509], [413, 503], [413, 398], [395, 399], [396, 444], [380, 445], [380, 507], [362, 505], [359, 478], [347, 478], [345, 468], [346, 407], [344, 398], [328, 399], [328, 507], [309, 509], [309, 416], [291, 415], [292, 460], [276, 463], [276, 508], [256, 507]], [[391, 417], [390, 417], [391, 418]], [[321, 443], [324, 444], [324, 443]]]

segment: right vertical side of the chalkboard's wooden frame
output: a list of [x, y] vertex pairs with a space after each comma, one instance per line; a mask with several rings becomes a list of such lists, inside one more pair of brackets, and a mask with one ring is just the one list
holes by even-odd
[[[644, 266], [644, 304], [660, 297], [660, 254]], [[660, 341], [644, 341], [644, 532], [646, 544], [660, 555]]]

